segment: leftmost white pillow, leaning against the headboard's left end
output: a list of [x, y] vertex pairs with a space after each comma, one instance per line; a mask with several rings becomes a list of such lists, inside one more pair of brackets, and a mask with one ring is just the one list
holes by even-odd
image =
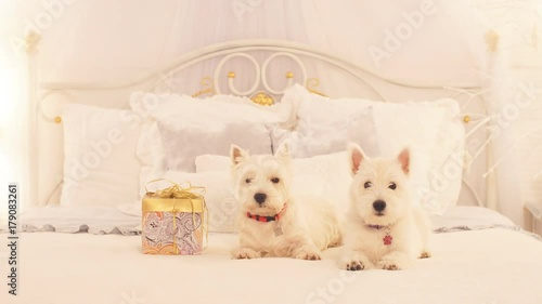
[[63, 206], [109, 206], [138, 199], [140, 124], [130, 110], [67, 104], [63, 108]]

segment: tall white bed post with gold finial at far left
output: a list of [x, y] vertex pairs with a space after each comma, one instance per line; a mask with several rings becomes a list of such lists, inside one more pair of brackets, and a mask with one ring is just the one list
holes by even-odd
[[[27, 101], [28, 116], [28, 150], [25, 155], [27, 159], [25, 180], [28, 183], [27, 198], [25, 206], [39, 204], [39, 167], [38, 167], [38, 43], [41, 37], [34, 31], [26, 35], [26, 77], [27, 77]], [[25, 185], [22, 185], [24, 187]]]

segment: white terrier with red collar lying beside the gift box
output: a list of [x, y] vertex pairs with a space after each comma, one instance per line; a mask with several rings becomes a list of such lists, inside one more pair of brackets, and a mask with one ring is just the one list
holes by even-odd
[[249, 156], [232, 145], [240, 244], [235, 259], [284, 256], [320, 260], [321, 251], [341, 241], [336, 208], [318, 197], [291, 194], [291, 157], [287, 145], [275, 155]]

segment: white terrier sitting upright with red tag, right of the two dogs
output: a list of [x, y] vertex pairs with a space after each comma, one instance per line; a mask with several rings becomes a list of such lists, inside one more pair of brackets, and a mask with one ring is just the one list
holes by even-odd
[[409, 186], [410, 153], [369, 159], [349, 146], [352, 184], [341, 268], [398, 270], [416, 257], [429, 257], [430, 225], [413, 203]]

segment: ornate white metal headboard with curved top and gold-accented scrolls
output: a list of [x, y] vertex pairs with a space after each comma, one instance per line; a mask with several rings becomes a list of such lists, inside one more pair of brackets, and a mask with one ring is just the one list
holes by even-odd
[[[30, 128], [30, 143], [29, 143], [29, 155], [28, 155], [28, 166], [31, 176], [30, 182], [30, 201], [38, 202], [38, 204], [44, 204], [44, 201], [50, 196], [49, 193], [53, 190], [53, 184], [49, 183], [48, 186], [40, 187], [40, 183], [43, 183], [43, 172], [40, 172], [40, 163], [38, 162], [39, 156], [39, 134], [38, 131], [38, 120], [50, 123], [61, 123], [62, 118], [59, 114], [51, 114], [48, 108], [48, 100], [52, 96], [65, 100], [73, 98], [76, 92], [117, 92], [124, 91], [125, 95], [129, 96], [131, 91], [144, 90], [144, 91], [155, 91], [165, 80], [172, 78], [176, 74], [181, 72], [185, 69], [196, 66], [203, 62], [209, 60], [219, 60], [216, 64], [212, 77], [209, 75], [202, 75], [199, 79], [203, 79], [202, 84], [204, 88], [198, 92], [194, 92], [194, 95], [203, 95], [207, 93], [224, 93], [221, 89], [223, 87], [222, 79], [224, 79], [228, 93], [233, 93], [235, 95], [249, 96], [253, 101], [259, 101], [260, 103], [269, 103], [273, 95], [280, 96], [285, 89], [292, 85], [294, 82], [301, 82], [315, 93], [320, 93], [317, 88], [319, 85], [319, 78], [310, 75], [307, 70], [304, 60], [309, 58], [317, 61], [319, 63], [326, 64], [340, 72], [348, 75], [351, 79], [358, 82], [358, 85], [364, 88], [364, 92], [372, 94], [373, 98], [376, 96], [384, 102], [389, 101], [387, 88], [393, 87], [397, 90], [404, 90], [404, 92], [416, 92], [424, 93], [425, 96], [455, 96], [456, 98], [462, 98], [457, 94], [457, 91], [450, 90], [450, 88], [455, 88], [461, 92], [478, 92], [481, 91], [478, 84], [473, 83], [415, 83], [405, 80], [397, 80], [383, 77], [375, 70], [363, 68], [352, 64], [351, 62], [339, 58], [335, 55], [327, 54], [322, 51], [314, 50], [313, 48], [305, 44], [300, 44], [293, 41], [276, 41], [276, 40], [242, 40], [242, 41], [229, 41], [218, 44], [212, 44], [209, 47], [202, 48], [199, 50], [181, 55], [176, 61], [164, 65], [155, 70], [139, 77], [136, 79], [128, 79], [126, 81], [119, 81], [114, 83], [98, 83], [98, 82], [42, 82], [38, 83], [38, 71], [37, 71], [37, 60], [38, 51], [37, 45], [39, 42], [39, 36], [30, 34], [27, 37], [27, 51], [28, 51], [28, 72], [29, 72], [29, 100], [35, 107], [33, 111], [29, 113], [28, 118], [33, 121]], [[256, 54], [266, 54], [262, 62], [256, 58]], [[282, 76], [286, 78], [286, 85], [284, 88], [275, 88], [271, 85], [269, 77], [269, 67], [273, 61], [279, 57], [285, 57], [294, 62], [300, 70], [300, 75], [294, 75], [291, 70], [283, 71]], [[232, 70], [225, 70], [224, 66], [227, 63], [233, 58], [242, 58], [247, 61], [254, 67], [254, 81], [246, 90], [241, 90], [236, 87], [236, 75]], [[301, 60], [302, 58], [302, 60]], [[298, 80], [295, 80], [295, 77]], [[476, 98], [481, 100], [481, 94], [476, 95]], [[128, 98], [126, 100], [128, 101]], [[73, 102], [73, 101], [72, 101]], [[464, 116], [464, 122], [467, 124], [472, 132], [479, 132], [480, 128], [470, 125], [468, 123], [473, 122], [477, 118], [482, 118], [486, 115], [486, 106], [483, 102], [473, 103], [473, 97], [465, 97], [463, 109], [466, 113]], [[473, 115], [470, 114], [473, 113]], [[488, 154], [488, 149], [486, 149]], [[481, 155], [481, 154], [478, 154]], [[481, 162], [487, 168], [487, 156], [482, 156]], [[56, 169], [59, 172], [59, 169]], [[52, 173], [54, 174], [54, 173]], [[57, 181], [56, 181], [57, 182]], [[487, 194], [490, 188], [490, 180], [486, 183], [486, 194], [483, 197], [491, 197]], [[468, 185], [465, 182], [465, 185]], [[41, 190], [41, 194], [40, 194]], [[47, 193], [47, 194], [43, 194]], [[483, 198], [473, 190], [473, 196], [475, 200], [480, 203]]]

